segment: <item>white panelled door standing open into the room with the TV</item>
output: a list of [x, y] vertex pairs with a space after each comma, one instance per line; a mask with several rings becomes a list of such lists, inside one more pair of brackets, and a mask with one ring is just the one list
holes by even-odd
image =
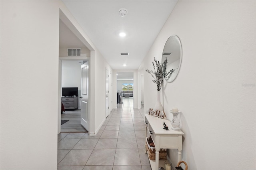
[[81, 79], [81, 125], [89, 131], [89, 61], [86, 61], [82, 68]]

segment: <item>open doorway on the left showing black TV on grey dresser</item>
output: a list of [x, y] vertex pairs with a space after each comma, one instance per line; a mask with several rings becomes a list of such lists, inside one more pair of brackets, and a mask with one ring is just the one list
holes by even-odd
[[88, 132], [81, 125], [81, 65], [85, 62], [82, 60], [62, 60], [60, 132]]

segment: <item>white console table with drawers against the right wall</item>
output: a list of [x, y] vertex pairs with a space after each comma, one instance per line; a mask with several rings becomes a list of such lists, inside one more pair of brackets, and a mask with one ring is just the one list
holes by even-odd
[[[168, 126], [169, 130], [163, 129], [164, 123]], [[178, 149], [178, 162], [181, 161], [182, 135], [184, 133], [181, 130], [172, 130], [171, 122], [168, 119], [160, 119], [148, 114], [145, 114], [145, 125], [146, 136], [148, 131], [156, 149], [156, 160], [150, 160], [151, 168], [154, 169], [155, 167], [158, 170], [159, 166], [164, 167], [164, 161], [159, 161], [160, 148]], [[147, 153], [146, 148], [145, 153]]]

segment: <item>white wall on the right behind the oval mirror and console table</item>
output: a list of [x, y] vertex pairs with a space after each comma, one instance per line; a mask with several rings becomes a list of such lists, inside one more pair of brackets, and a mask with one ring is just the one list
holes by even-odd
[[[178, 1], [143, 61], [152, 69], [166, 40], [178, 35], [178, 77], [164, 84], [162, 103], [182, 111], [182, 160], [190, 170], [256, 169], [255, 1]], [[144, 71], [145, 109], [156, 85]], [[147, 91], [151, 93], [147, 93]], [[173, 164], [177, 150], [169, 150]]]

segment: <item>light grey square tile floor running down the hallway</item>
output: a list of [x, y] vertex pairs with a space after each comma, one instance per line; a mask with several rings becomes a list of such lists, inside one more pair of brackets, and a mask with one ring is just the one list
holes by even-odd
[[58, 134], [58, 170], [151, 170], [144, 142], [144, 111], [124, 98], [96, 136]]

